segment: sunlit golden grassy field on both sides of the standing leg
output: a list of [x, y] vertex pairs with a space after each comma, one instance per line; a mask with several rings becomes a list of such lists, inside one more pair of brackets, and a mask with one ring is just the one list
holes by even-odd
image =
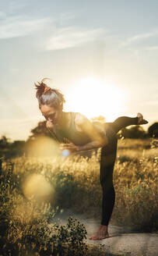
[[[2, 163], [0, 235], [4, 255], [97, 255], [85, 244], [86, 229], [73, 219], [50, 224], [71, 208], [100, 218], [100, 149], [90, 158], [12, 158]], [[111, 223], [158, 231], [157, 140], [119, 140]], [[67, 237], [67, 238], [66, 238]], [[69, 249], [68, 249], [69, 248]], [[49, 252], [49, 254], [48, 254]], [[101, 252], [98, 253], [101, 255]]]

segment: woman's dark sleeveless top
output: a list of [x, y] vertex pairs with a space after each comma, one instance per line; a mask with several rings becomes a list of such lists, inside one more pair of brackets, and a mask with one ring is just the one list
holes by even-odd
[[[71, 121], [70, 125], [67, 129], [61, 130], [61, 129], [56, 129], [55, 133], [54, 131], [50, 130], [47, 128], [47, 130], [50, 131], [51, 136], [54, 137], [54, 140], [57, 140], [60, 143], [65, 143], [64, 138], [67, 138], [68, 140], [72, 141], [73, 144], [82, 146], [84, 144], [89, 143], [91, 138], [84, 132], [79, 132], [78, 130], [75, 129], [75, 112], [70, 112], [71, 113]], [[94, 125], [100, 125], [98, 122], [93, 122]]]

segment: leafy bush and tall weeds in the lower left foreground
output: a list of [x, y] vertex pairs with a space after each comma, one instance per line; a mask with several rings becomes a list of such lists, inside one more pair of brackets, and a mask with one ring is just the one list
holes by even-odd
[[[5, 174], [4, 174], [5, 173]], [[86, 229], [76, 219], [65, 226], [52, 222], [50, 204], [36, 204], [10, 184], [9, 170], [2, 175], [0, 197], [0, 244], [2, 255], [86, 255]], [[51, 223], [50, 223], [51, 221]]]

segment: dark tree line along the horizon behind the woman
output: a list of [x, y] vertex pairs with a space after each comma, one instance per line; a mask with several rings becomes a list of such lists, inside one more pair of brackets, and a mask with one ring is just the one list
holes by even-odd
[[[103, 122], [104, 118], [99, 116], [92, 120]], [[31, 135], [27, 140], [14, 140], [13, 142], [10, 142], [9, 138], [3, 135], [0, 138], [0, 157], [11, 158], [27, 154], [28, 151], [31, 151], [33, 144], [37, 143], [41, 137], [51, 138], [51, 134], [46, 128], [46, 121], [37, 123], [37, 126], [30, 130], [30, 133]], [[124, 128], [118, 133], [118, 139], [146, 139], [149, 137], [158, 137], [158, 123], [153, 123], [146, 131], [142, 126], [129, 126], [129, 128]], [[39, 147], [42, 148], [42, 145]]]

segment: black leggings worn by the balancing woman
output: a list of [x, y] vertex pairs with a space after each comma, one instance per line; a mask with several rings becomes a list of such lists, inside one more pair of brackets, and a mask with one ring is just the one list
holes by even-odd
[[113, 184], [114, 162], [117, 154], [117, 133], [126, 126], [138, 124], [138, 117], [121, 116], [114, 123], [104, 123], [108, 144], [101, 149], [100, 184], [103, 190], [101, 225], [107, 226], [114, 208], [115, 192]]

